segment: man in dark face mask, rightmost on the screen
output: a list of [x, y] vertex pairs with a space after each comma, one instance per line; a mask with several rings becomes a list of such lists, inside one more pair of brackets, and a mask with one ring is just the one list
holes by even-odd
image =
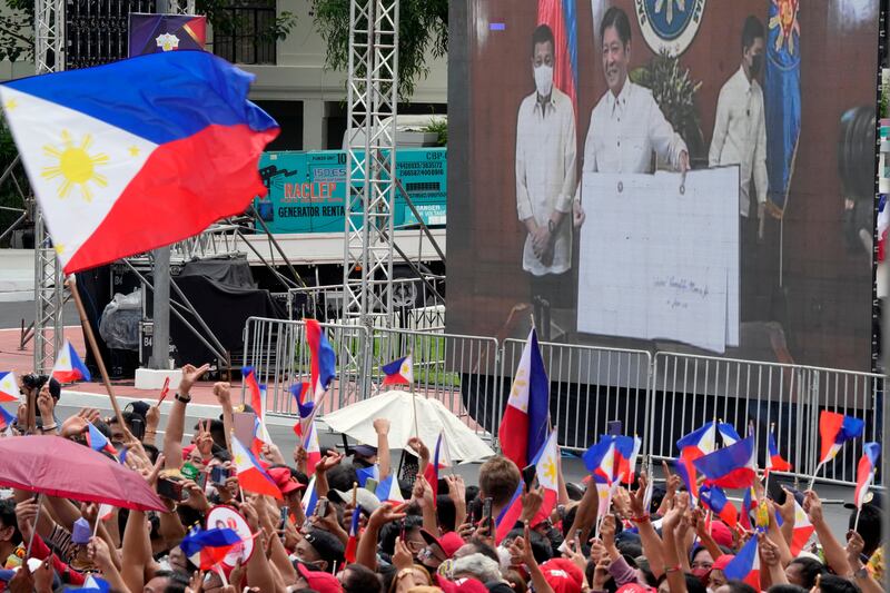
[[[742, 217], [742, 307], [754, 302], [753, 273], [756, 269], [756, 243], [763, 238], [767, 206], [767, 122], [763, 89], [758, 77], [763, 70], [765, 38], [763, 24], [749, 16], [742, 28], [742, 63], [720, 89], [714, 120], [714, 136], [708, 161], [711, 167], [739, 165], [739, 214]], [[752, 192], [756, 197], [751, 216]], [[751, 319], [742, 309], [742, 318]]]

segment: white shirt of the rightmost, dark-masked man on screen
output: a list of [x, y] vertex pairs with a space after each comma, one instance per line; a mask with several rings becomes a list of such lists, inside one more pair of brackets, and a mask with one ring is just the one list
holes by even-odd
[[751, 177], [758, 202], [767, 201], [767, 121], [763, 113], [763, 90], [756, 80], [749, 81], [739, 67], [720, 89], [716, 119], [708, 164], [739, 165], [739, 214], [749, 214]]

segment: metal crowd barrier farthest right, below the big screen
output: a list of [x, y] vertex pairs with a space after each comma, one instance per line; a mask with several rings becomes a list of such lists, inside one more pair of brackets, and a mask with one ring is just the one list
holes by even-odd
[[[660, 352], [650, 383], [650, 447], [655, 458], [675, 457], [676, 441], [705, 422], [732, 424], [741, 436], [753, 429], [760, 467], [767, 435], [775, 436], [788, 474], [808, 483], [819, 451], [819, 414], [829, 409], [864, 418], [863, 438], [841, 448], [820, 471], [827, 482], [854, 484], [862, 445], [881, 435], [886, 377], [803, 365], [761, 363]], [[876, 477], [878, 483], [881, 476]]]

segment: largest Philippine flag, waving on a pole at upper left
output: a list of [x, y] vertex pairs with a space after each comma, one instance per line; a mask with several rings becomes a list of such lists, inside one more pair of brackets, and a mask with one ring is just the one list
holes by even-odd
[[0, 101], [66, 274], [197, 235], [266, 188], [278, 125], [253, 76], [169, 51], [0, 85]]

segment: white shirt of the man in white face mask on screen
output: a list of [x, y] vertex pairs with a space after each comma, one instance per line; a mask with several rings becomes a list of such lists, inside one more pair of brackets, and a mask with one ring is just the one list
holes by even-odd
[[[542, 107], [537, 92], [520, 105], [516, 116], [516, 211], [520, 220], [534, 217], [547, 226], [554, 210], [572, 211], [575, 190], [575, 110], [556, 87]], [[555, 231], [553, 261], [545, 266], [525, 238], [522, 267], [535, 276], [562, 274], [572, 266], [572, 217]]]

